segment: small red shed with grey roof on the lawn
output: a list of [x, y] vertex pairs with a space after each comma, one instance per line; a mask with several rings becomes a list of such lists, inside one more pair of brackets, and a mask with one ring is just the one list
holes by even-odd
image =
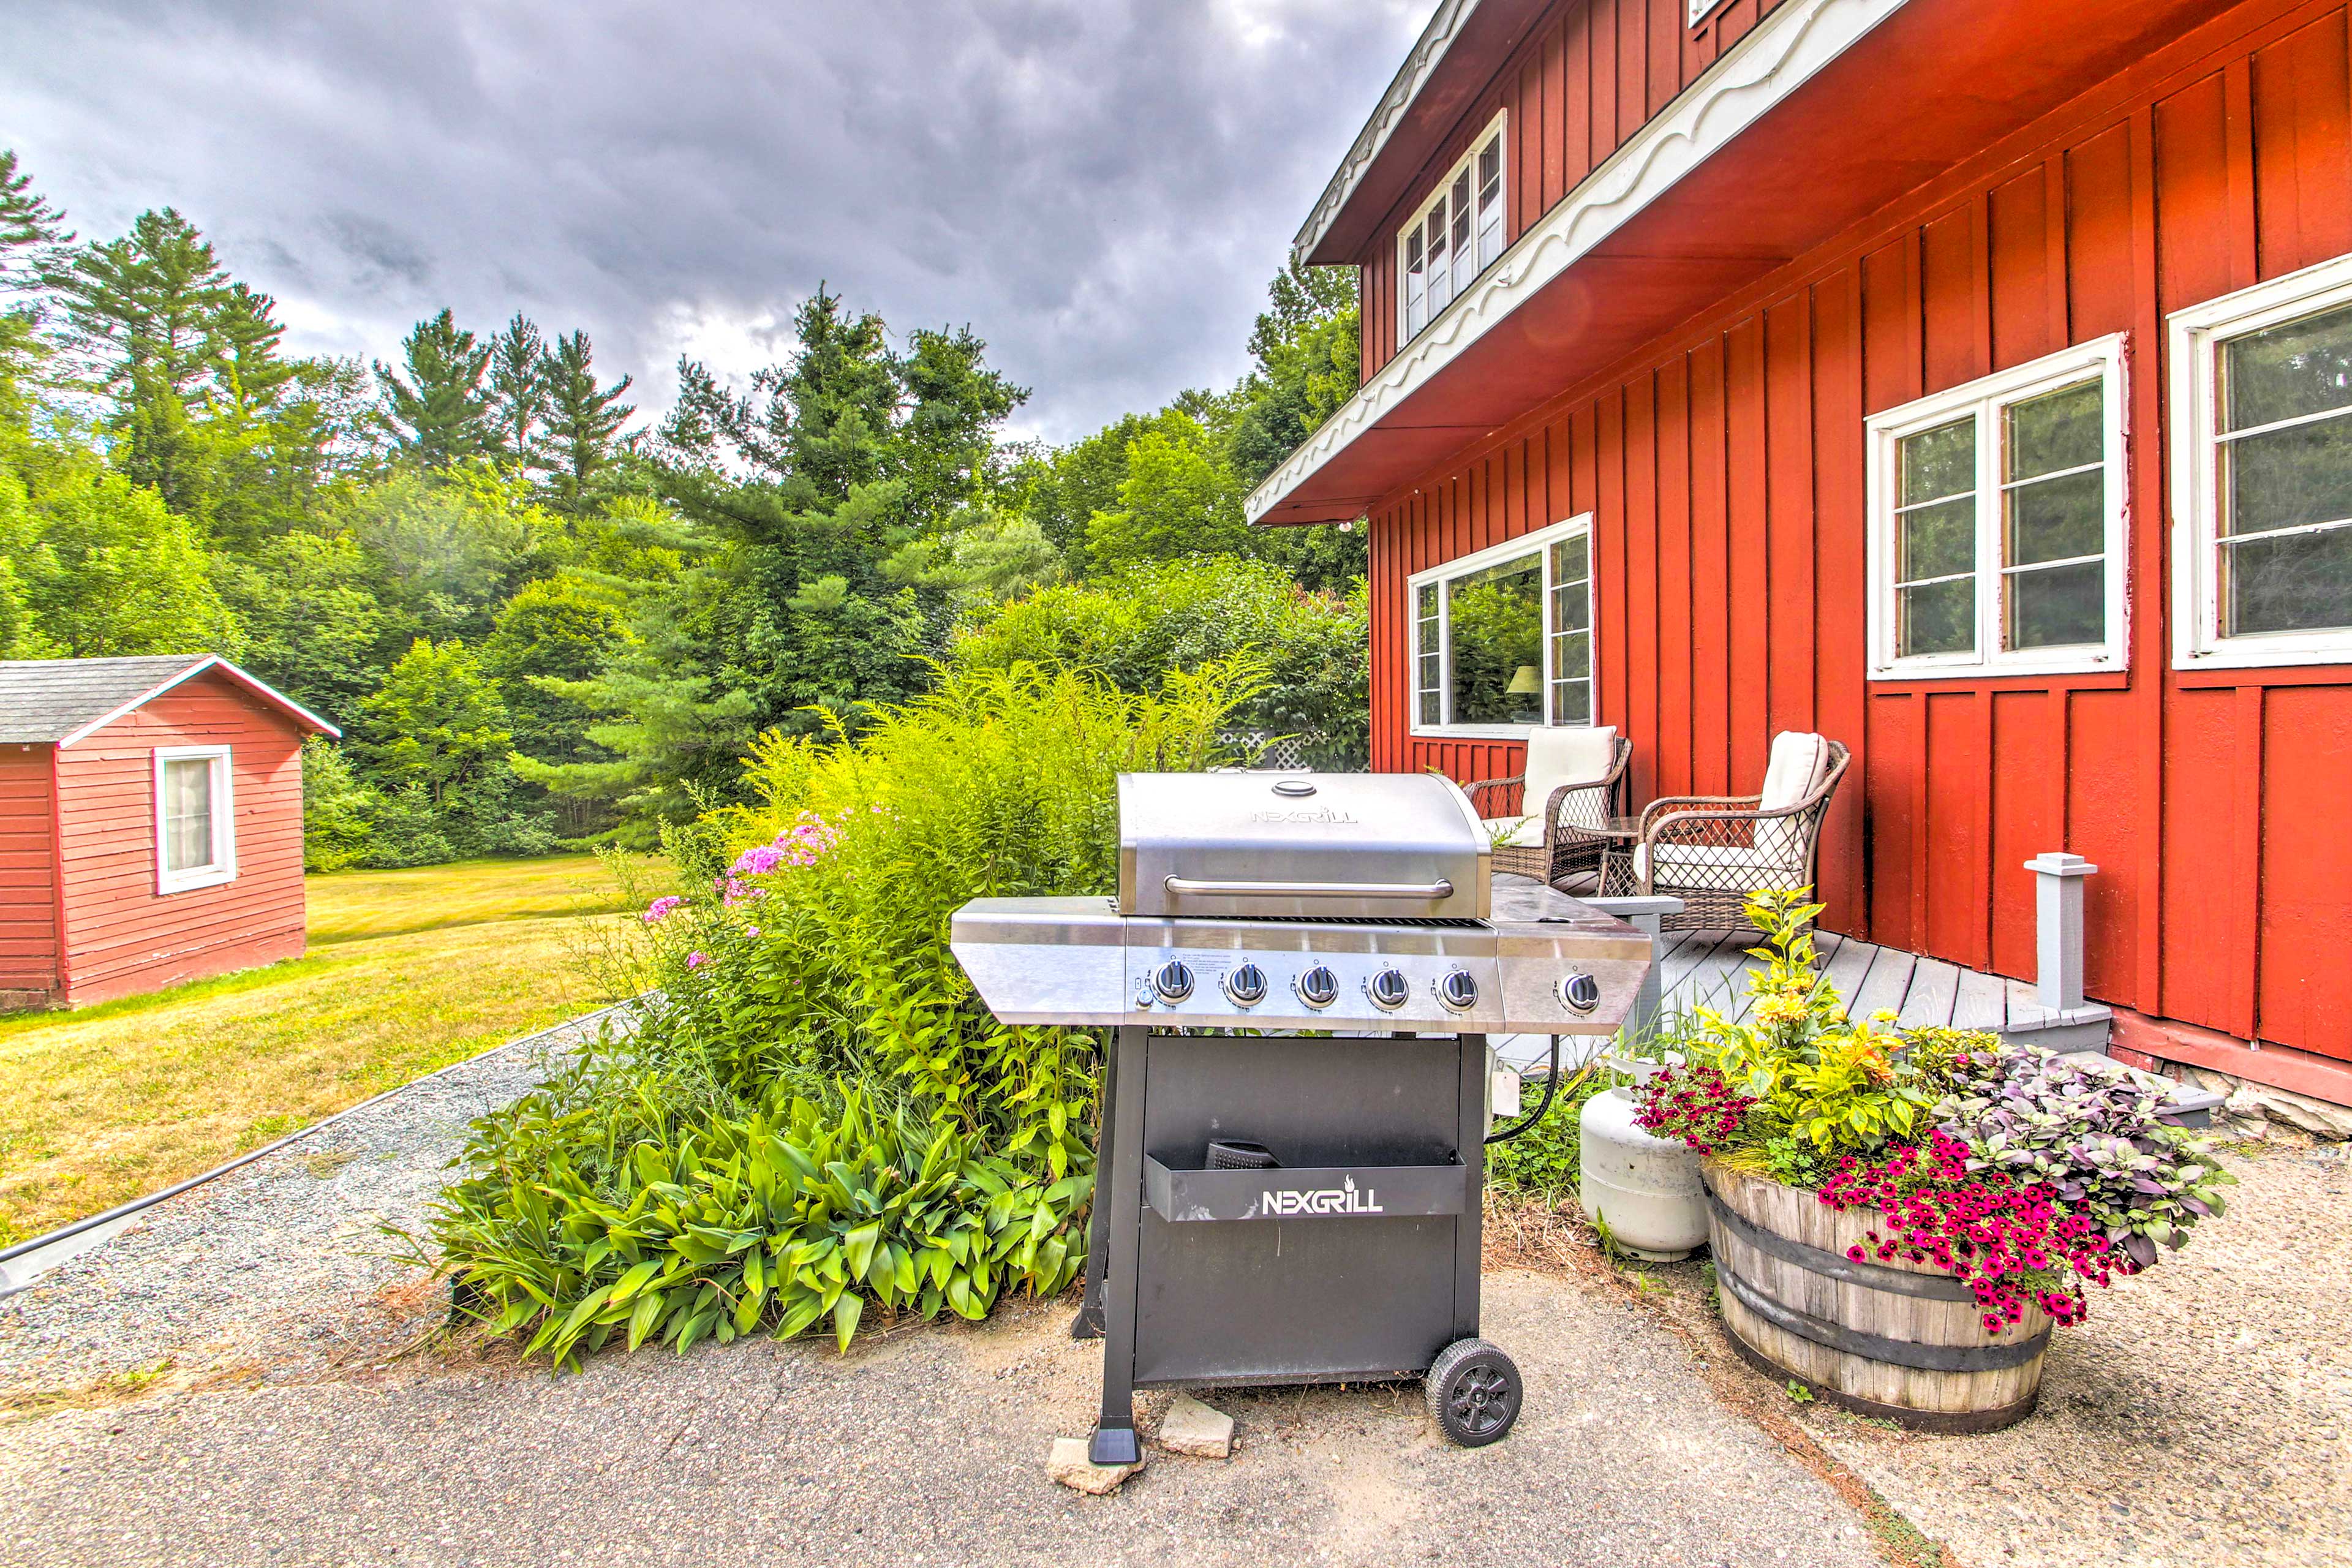
[[0, 661], [0, 1006], [296, 957], [310, 733], [214, 654]]

